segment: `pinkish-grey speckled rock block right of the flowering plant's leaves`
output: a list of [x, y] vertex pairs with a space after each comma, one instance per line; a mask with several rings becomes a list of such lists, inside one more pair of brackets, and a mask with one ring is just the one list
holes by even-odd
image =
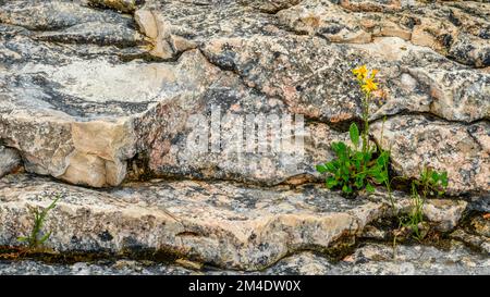
[[377, 122], [371, 127], [377, 141], [391, 150], [392, 164], [399, 174], [419, 177], [425, 165], [431, 166], [448, 172], [448, 193], [474, 191], [488, 199], [488, 122], [467, 126], [422, 115], [401, 115], [384, 124]]

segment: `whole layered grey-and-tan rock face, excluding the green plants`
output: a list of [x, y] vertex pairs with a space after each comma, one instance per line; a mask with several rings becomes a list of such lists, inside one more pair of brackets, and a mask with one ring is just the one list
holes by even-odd
[[[274, 274], [488, 274], [487, 216], [457, 224], [489, 211], [489, 20], [488, 1], [0, 0], [0, 245], [19, 245], [29, 210], [61, 193], [45, 225], [58, 251], [160, 250]], [[448, 172], [448, 193], [466, 200], [428, 200], [425, 219], [480, 253], [457, 243], [401, 246], [397, 260], [381, 244], [339, 263], [303, 252], [388, 234], [372, 225], [393, 215], [384, 193], [347, 200], [307, 184], [360, 120], [360, 64], [380, 71], [371, 137], [397, 175]], [[21, 160], [93, 188], [5, 175]], [[156, 177], [167, 181], [140, 182]], [[124, 260], [8, 264], [193, 273]]]

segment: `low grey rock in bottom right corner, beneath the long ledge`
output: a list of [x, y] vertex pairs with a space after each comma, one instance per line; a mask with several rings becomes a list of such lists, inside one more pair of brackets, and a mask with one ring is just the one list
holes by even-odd
[[450, 249], [432, 246], [363, 244], [342, 261], [331, 262], [311, 252], [294, 255], [265, 271], [266, 274], [306, 275], [422, 275], [487, 274], [488, 257], [454, 243]]

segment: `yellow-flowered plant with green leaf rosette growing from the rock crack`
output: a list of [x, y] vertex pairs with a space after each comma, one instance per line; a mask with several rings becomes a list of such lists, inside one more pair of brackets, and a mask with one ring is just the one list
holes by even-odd
[[335, 159], [316, 166], [320, 173], [327, 173], [326, 186], [340, 188], [346, 195], [353, 195], [356, 190], [366, 189], [375, 191], [375, 185], [388, 182], [388, 163], [390, 152], [378, 149], [369, 139], [369, 102], [372, 100], [372, 91], [378, 89], [376, 75], [378, 71], [369, 71], [365, 65], [353, 70], [360, 90], [364, 94], [362, 100], [363, 129], [356, 123], [352, 123], [348, 129], [353, 147], [345, 143], [332, 143], [331, 148]]

